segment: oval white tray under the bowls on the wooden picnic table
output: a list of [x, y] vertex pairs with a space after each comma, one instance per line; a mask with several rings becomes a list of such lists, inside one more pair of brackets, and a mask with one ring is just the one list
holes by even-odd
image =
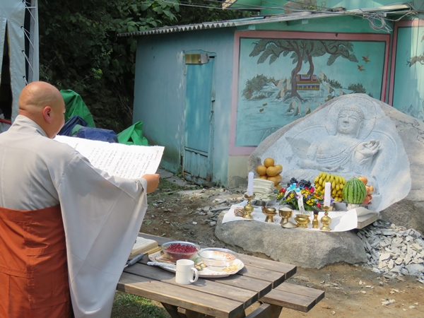
[[[155, 261], [160, 268], [175, 273], [175, 268], [173, 269], [169, 266], [166, 266], [167, 264], [175, 264], [175, 261], [167, 259], [162, 251], [155, 252], [153, 254], [148, 254], [148, 259], [150, 259], [151, 261]], [[232, 263], [231, 266], [225, 267], [225, 269], [222, 270], [209, 268], [201, 261], [201, 258], [197, 255], [195, 257], [192, 257], [192, 261], [194, 261], [194, 264], [196, 264], [195, 267], [199, 271], [199, 277], [201, 278], [227, 277], [237, 273], [237, 271], [240, 271], [240, 269], [245, 267], [245, 264], [243, 264], [240, 259], [235, 259], [234, 263]], [[161, 263], [163, 264], [163, 266], [160, 265]]]

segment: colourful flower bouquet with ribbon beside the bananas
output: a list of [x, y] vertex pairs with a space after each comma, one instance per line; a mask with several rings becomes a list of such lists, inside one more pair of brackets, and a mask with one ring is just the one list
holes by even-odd
[[291, 178], [287, 188], [281, 188], [277, 194], [278, 205], [288, 205], [293, 210], [318, 211], [322, 206], [322, 193], [312, 187], [311, 182]]

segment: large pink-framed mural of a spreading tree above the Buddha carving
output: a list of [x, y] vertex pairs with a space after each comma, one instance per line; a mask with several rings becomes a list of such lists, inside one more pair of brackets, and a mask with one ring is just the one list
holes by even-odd
[[387, 35], [251, 34], [239, 39], [236, 147], [259, 145], [337, 96], [385, 95]]

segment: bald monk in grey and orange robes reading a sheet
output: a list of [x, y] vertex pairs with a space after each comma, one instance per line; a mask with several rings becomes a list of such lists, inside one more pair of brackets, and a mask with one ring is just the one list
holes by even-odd
[[64, 100], [26, 86], [0, 134], [0, 317], [110, 317], [159, 175], [113, 177], [66, 143]]

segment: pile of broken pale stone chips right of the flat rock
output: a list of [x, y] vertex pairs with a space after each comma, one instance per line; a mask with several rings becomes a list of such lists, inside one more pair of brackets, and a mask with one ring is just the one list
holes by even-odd
[[377, 220], [357, 235], [367, 252], [364, 266], [372, 272], [386, 278], [416, 276], [424, 283], [424, 240], [420, 232]]

